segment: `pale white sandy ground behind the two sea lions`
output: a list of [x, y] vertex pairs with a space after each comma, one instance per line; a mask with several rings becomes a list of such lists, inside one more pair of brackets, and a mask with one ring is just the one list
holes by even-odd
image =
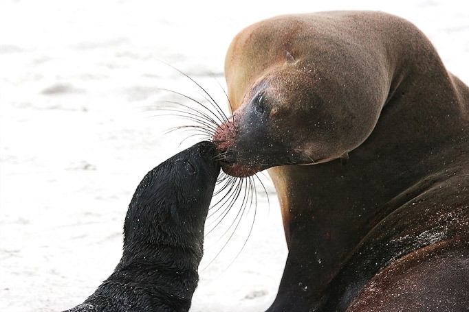
[[[215, 79], [224, 84], [224, 54], [241, 28], [289, 12], [382, 10], [413, 21], [469, 82], [466, 1], [383, 2], [2, 0], [0, 311], [83, 302], [120, 259], [127, 204], [144, 173], [195, 142], [179, 146], [187, 134], [163, 131], [184, 121], [148, 111], [157, 87], [198, 93], [155, 58], [224, 106]], [[212, 263], [227, 236], [207, 237], [192, 311], [263, 311], [274, 299], [287, 250], [267, 189], [270, 208], [259, 192], [237, 258], [254, 211]]]

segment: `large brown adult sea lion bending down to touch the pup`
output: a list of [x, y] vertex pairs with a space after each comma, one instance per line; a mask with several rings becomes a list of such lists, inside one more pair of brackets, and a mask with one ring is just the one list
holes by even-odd
[[221, 167], [269, 169], [289, 248], [268, 311], [469, 310], [469, 88], [417, 27], [277, 16], [225, 71]]

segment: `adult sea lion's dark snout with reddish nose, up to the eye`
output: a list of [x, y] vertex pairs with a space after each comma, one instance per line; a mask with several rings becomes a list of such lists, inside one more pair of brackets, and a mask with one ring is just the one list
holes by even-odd
[[272, 97], [262, 90], [252, 94], [212, 137], [221, 169], [230, 176], [246, 177], [277, 165], [305, 162], [290, 144], [290, 136], [279, 132], [271, 118]]

